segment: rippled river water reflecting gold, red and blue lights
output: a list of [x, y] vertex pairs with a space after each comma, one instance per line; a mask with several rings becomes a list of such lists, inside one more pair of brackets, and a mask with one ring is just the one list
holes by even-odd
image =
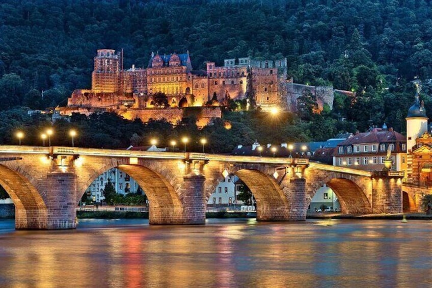
[[93, 219], [63, 231], [0, 221], [0, 286], [427, 287], [431, 231], [429, 221]]

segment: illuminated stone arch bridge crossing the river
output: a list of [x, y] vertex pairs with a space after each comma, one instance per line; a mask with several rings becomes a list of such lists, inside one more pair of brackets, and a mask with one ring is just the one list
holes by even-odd
[[100, 174], [117, 167], [143, 188], [150, 224], [204, 224], [219, 181], [237, 175], [252, 191], [258, 221], [301, 221], [323, 185], [342, 213], [402, 212], [403, 173], [309, 162], [204, 153], [77, 147], [0, 146], [0, 185], [15, 203], [17, 229], [76, 227], [76, 207]]

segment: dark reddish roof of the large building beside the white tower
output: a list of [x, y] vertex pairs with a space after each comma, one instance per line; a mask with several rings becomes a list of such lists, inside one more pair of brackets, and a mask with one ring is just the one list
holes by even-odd
[[388, 143], [388, 142], [407, 142], [407, 138], [395, 131], [383, 131], [373, 129], [370, 132], [359, 133], [345, 141], [339, 143], [342, 145], [365, 144], [365, 143]]

